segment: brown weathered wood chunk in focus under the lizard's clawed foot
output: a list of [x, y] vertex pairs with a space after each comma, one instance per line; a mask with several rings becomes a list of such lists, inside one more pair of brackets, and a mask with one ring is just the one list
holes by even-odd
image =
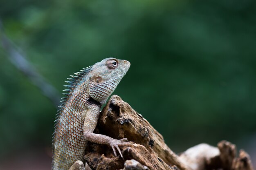
[[[180, 170], [189, 170], [164, 143], [162, 135], [117, 95], [113, 95], [103, 108], [95, 132], [115, 139], [127, 138], [128, 141], [133, 141], [134, 146], [121, 147], [124, 160], [134, 159], [150, 170], [171, 170], [172, 165]], [[94, 169], [124, 168], [124, 160], [120, 156], [116, 158], [108, 146], [89, 142], [87, 150], [85, 159]], [[114, 165], [113, 162], [117, 164]], [[104, 167], [101, 166], [102, 163]]]

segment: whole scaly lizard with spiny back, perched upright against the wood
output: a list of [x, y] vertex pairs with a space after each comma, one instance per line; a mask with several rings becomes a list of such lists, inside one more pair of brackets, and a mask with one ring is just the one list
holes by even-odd
[[107, 58], [69, 78], [67, 97], [60, 107], [53, 137], [52, 170], [85, 170], [87, 141], [109, 145], [115, 155], [127, 139], [94, 134], [100, 108], [115, 90], [130, 67], [130, 62]]

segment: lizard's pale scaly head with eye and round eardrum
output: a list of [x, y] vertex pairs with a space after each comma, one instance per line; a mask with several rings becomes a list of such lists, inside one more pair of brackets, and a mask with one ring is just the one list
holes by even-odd
[[115, 58], [106, 58], [94, 64], [89, 73], [88, 95], [104, 104], [129, 68], [130, 62]]

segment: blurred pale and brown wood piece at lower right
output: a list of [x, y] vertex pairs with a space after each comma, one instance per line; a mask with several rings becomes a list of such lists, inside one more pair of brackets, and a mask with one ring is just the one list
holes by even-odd
[[249, 155], [240, 150], [236, 157], [236, 145], [228, 141], [220, 141], [218, 148], [208, 144], [200, 144], [189, 148], [180, 161], [192, 170], [253, 170]]

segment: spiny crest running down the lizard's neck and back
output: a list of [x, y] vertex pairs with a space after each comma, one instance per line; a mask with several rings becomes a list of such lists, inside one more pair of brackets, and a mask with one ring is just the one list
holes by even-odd
[[[56, 130], [56, 126], [58, 126], [58, 118], [60, 116], [61, 111], [63, 110], [63, 106], [65, 105], [65, 102], [67, 101], [67, 98], [69, 97], [69, 95], [72, 93], [72, 91], [74, 90], [74, 88], [76, 87], [76, 85], [80, 82], [80, 80], [85, 77], [90, 71], [92, 71], [92, 66], [83, 68], [83, 70], [80, 70], [76, 73], [74, 73], [75, 75], [70, 75], [72, 78], [67, 78], [70, 81], [65, 81], [66, 83], [68, 83], [69, 85], [64, 85], [65, 87], [67, 87], [67, 89], [63, 90], [67, 93], [62, 93], [63, 95], [66, 95], [65, 97], [62, 97], [61, 99], [63, 99], [61, 101], [61, 105], [58, 106], [60, 109], [57, 110], [57, 114], [55, 117], [55, 124], [54, 124], [54, 132], [53, 132], [53, 137], [52, 137], [52, 144], [54, 144], [54, 137], [55, 137], [55, 130]], [[54, 148], [54, 147], [53, 147]]]

